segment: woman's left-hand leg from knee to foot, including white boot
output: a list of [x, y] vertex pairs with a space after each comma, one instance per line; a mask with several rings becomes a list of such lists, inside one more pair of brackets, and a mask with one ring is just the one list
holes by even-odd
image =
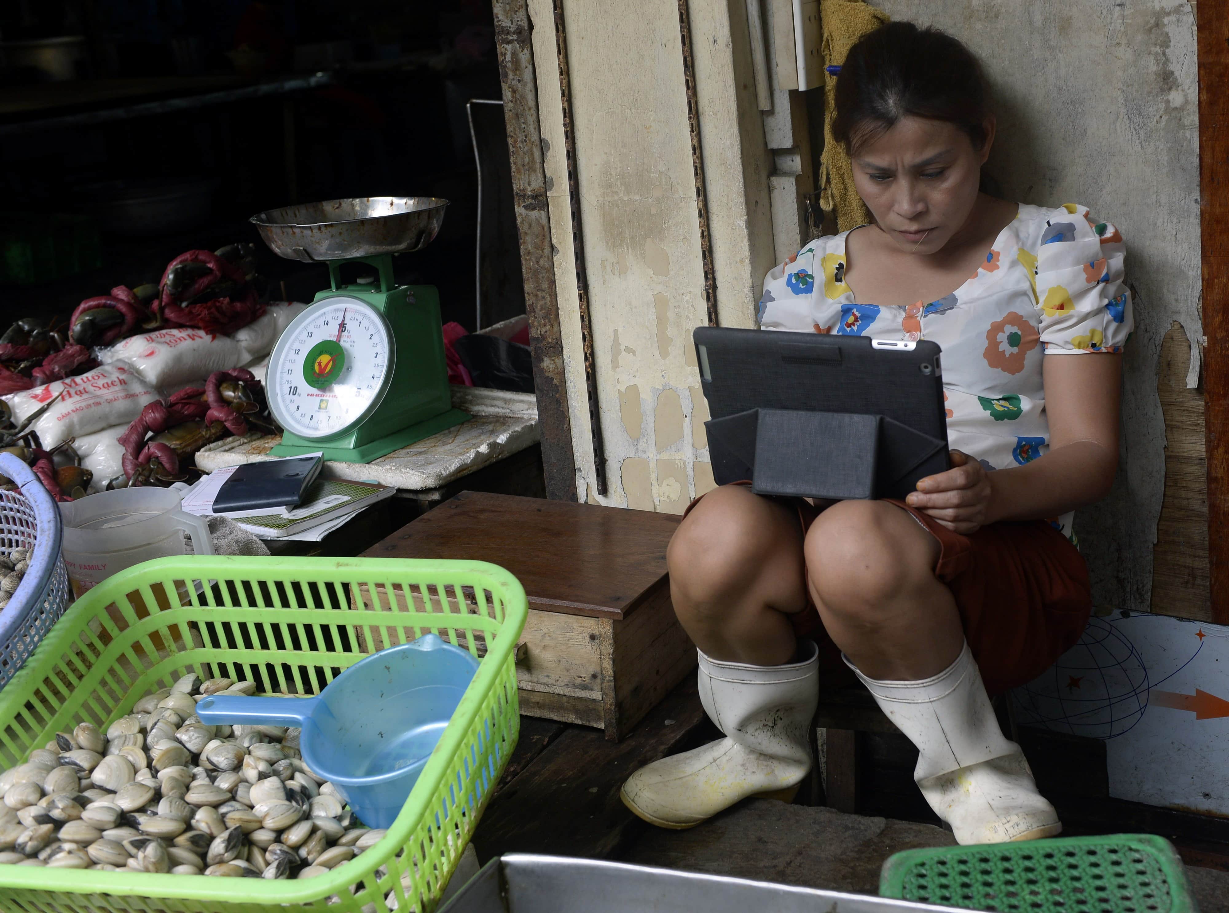
[[[806, 608], [795, 509], [726, 486], [683, 519], [667, 551], [675, 612], [699, 647], [699, 699], [724, 738], [640, 768], [619, 795], [659, 827], [693, 827], [748, 796], [790, 799], [812, 765], [819, 655], [798, 650]], [[798, 653], [798, 656], [795, 656]]]

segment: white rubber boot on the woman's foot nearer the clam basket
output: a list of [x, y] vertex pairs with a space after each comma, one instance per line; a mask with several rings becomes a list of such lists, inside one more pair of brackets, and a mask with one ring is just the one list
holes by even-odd
[[699, 653], [699, 699], [725, 738], [640, 768], [619, 792], [658, 827], [683, 829], [747, 796], [790, 801], [811, 771], [807, 730], [820, 700], [820, 653], [788, 666], [720, 662]]

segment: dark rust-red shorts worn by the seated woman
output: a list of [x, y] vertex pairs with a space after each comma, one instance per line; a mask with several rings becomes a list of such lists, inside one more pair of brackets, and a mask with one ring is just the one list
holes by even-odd
[[[778, 500], [796, 507], [804, 534], [820, 516], [803, 498]], [[934, 576], [955, 597], [987, 692], [998, 694], [1031, 682], [1079, 640], [1093, 609], [1088, 567], [1079, 550], [1050, 523], [992, 523], [962, 535], [903, 501], [890, 503], [907, 511], [939, 541]], [[844, 668], [839, 651], [810, 597], [790, 621], [799, 637], [816, 641], [821, 656], [836, 661], [833, 671], [839, 674]]]

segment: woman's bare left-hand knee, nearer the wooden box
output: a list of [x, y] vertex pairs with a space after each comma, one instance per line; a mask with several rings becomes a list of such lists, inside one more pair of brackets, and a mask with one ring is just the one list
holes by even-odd
[[[800, 533], [779, 504], [747, 488], [723, 486], [704, 496], [683, 519], [666, 551], [677, 603], [705, 604], [742, 592], [764, 575], [766, 565], [793, 551], [800, 564]], [[796, 520], [795, 520], [796, 523]]]

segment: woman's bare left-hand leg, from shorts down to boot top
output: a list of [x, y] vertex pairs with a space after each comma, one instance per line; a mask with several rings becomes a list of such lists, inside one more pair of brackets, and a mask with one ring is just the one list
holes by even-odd
[[714, 660], [780, 666], [794, 658], [788, 615], [806, 608], [798, 513], [750, 488], [704, 496], [666, 552], [683, 629]]

